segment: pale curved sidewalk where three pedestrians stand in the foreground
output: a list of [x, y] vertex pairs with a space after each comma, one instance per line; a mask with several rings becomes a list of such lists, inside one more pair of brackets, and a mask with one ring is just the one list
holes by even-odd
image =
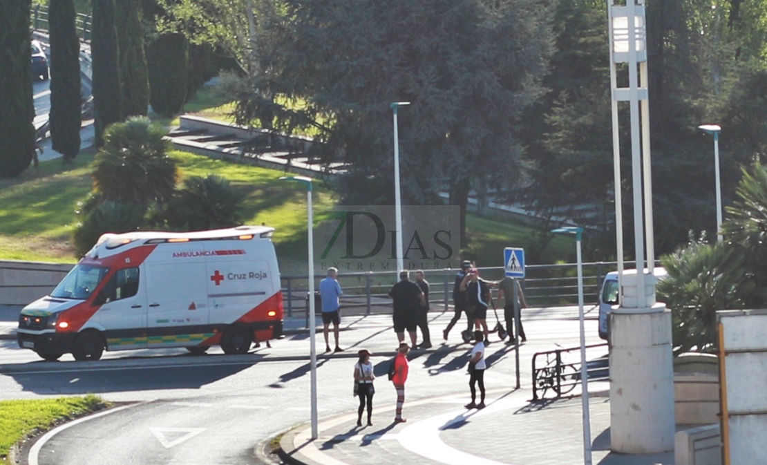
[[[406, 389], [407, 423], [393, 424], [393, 387], [382, 380], [376, 389], [374, 426], [357, 427], [356, 412], [323, 418], [318, 439], [311, 441], [310, 425], [301, 425], [282, 437], [281, 459], [304, 465], [584, 463], [580, 398], [530, 404], [528, 389], [495, 390], [478, 411], [463, 407], [469, 402], [468, 388], [465, 394], [410, 402]], [[673, 452], [611, 453], [609, 400], [592, 397], [590, 412], [594, 464], [673, 464]]]

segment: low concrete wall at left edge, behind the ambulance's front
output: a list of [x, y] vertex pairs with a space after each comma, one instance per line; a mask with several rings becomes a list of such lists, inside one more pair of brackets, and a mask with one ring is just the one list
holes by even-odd
[[73, 266], [0, 260], [0, 305], [27, 305], [47, 295]]

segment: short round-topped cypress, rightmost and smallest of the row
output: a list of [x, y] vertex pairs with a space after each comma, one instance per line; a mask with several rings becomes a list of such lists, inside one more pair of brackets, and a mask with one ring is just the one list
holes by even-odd
[[170, 117], [183, 110], [188, 61], [188, 46], [183, 34], [161, 35], [146, 48], [150, 104], [157, 113]]

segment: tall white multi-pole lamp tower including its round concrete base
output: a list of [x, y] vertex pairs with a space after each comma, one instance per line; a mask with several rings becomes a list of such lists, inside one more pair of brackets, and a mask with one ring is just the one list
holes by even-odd
[[[615, 5], [614, 0], [608, 0], [607, 8], [619, 286], [619, 305], [609, 317], [611, 449], [619, 453], [660, 453], [673, 450], [673, 359], [671, 315], [665, 305], [655, 302], [653, 279], [645, 6], [644, 0], [621, 3], [625, 4]], [[619, 72], [628, 87], [617, 87]], [[636, 272], [624, 271], [619, 102], [627, 102], [630, 110]]]

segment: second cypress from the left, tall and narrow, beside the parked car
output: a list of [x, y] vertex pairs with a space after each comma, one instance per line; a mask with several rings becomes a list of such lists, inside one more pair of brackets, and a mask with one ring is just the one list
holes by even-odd
[[74, 19], [74, 0], [51, 0], [51, 139], [64, 163], [80, 151], [81, 91], [80, 40]]

